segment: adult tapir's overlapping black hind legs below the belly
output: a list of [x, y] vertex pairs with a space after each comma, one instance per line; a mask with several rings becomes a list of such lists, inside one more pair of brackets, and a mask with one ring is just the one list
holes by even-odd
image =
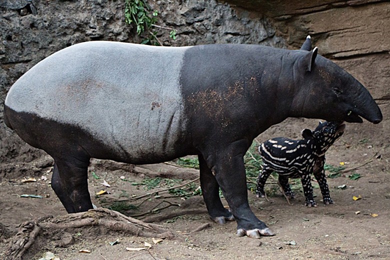
[[51, 186], [68, 213], [92, 208], [88, 192], [87, 172], [89, 159], [54, 159]]

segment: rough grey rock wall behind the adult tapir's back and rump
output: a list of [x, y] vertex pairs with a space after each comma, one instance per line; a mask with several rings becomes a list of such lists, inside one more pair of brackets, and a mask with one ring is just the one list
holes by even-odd
[[[149, 1], [159, 12], [158, 30], [164, 45], [256, 43], [283, 47], [282, 37], [257, 12], [232, 9], [215, 0]], [[41, 151], [27, 145], [3, 122], [3, 101], [9, 87], [31, 66], [51, 53], [87, 40], [140, 42], [134, 28], [124, 22], [124, 0], [0, 0], [0, 178], [16, 174], [24, 163], [35, 166]], [[39, 158], [39, 159], [37, 159]], [[25, 169], [27, 170], [27, 169]]]

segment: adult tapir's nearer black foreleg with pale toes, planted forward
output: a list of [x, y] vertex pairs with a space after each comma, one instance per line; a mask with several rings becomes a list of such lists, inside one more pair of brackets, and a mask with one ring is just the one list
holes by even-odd
[[[235, 151], [231, 149], [231, 151]], [[272, 231], [260, 221], [249, 207], [247, 199], [246, 176], [243, 153], [225, 152], [214, 154], [211, 171], [222, 189], [234, 219], [237, 221], [237, 235], [259, 238], [273, 235]]]

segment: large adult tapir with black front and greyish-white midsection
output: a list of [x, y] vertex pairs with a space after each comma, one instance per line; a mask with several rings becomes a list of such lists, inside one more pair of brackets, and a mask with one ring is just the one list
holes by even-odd
[[22, 75], [4, 119], [54, 158], [51, 186], [69, 213], [92, 208], [91, 157], [144, 164], [197, 154], [210, 217], [235, 219], [240, 236], [272, 235], [247, 201], [243, 155], [253, 138], [289, 116], [382, 120], [355, 78], [310, 49], [310, 38], [300, 50], [83, 42]]

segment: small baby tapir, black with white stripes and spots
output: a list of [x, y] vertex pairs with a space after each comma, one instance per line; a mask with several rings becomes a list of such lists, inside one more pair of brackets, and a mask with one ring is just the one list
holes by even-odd
[[291, 140], [284, 137], [269, 139], [258, 147], [263, 168], [257, 178], [257, 197], [264, 197], [264, 184], [269, 174], [275, 171], [286, 196], [294, 197], [288, 178], [300, 178], [306, 206], [316, 206], [310, 182], [313, 172], [321, 189], [323, 203], [332, 204], [326, 183], [325, 152], [344, 132], [345, 124], [340, 122], [319, 122], [314, 131], [302, 130], [303, 139]]

